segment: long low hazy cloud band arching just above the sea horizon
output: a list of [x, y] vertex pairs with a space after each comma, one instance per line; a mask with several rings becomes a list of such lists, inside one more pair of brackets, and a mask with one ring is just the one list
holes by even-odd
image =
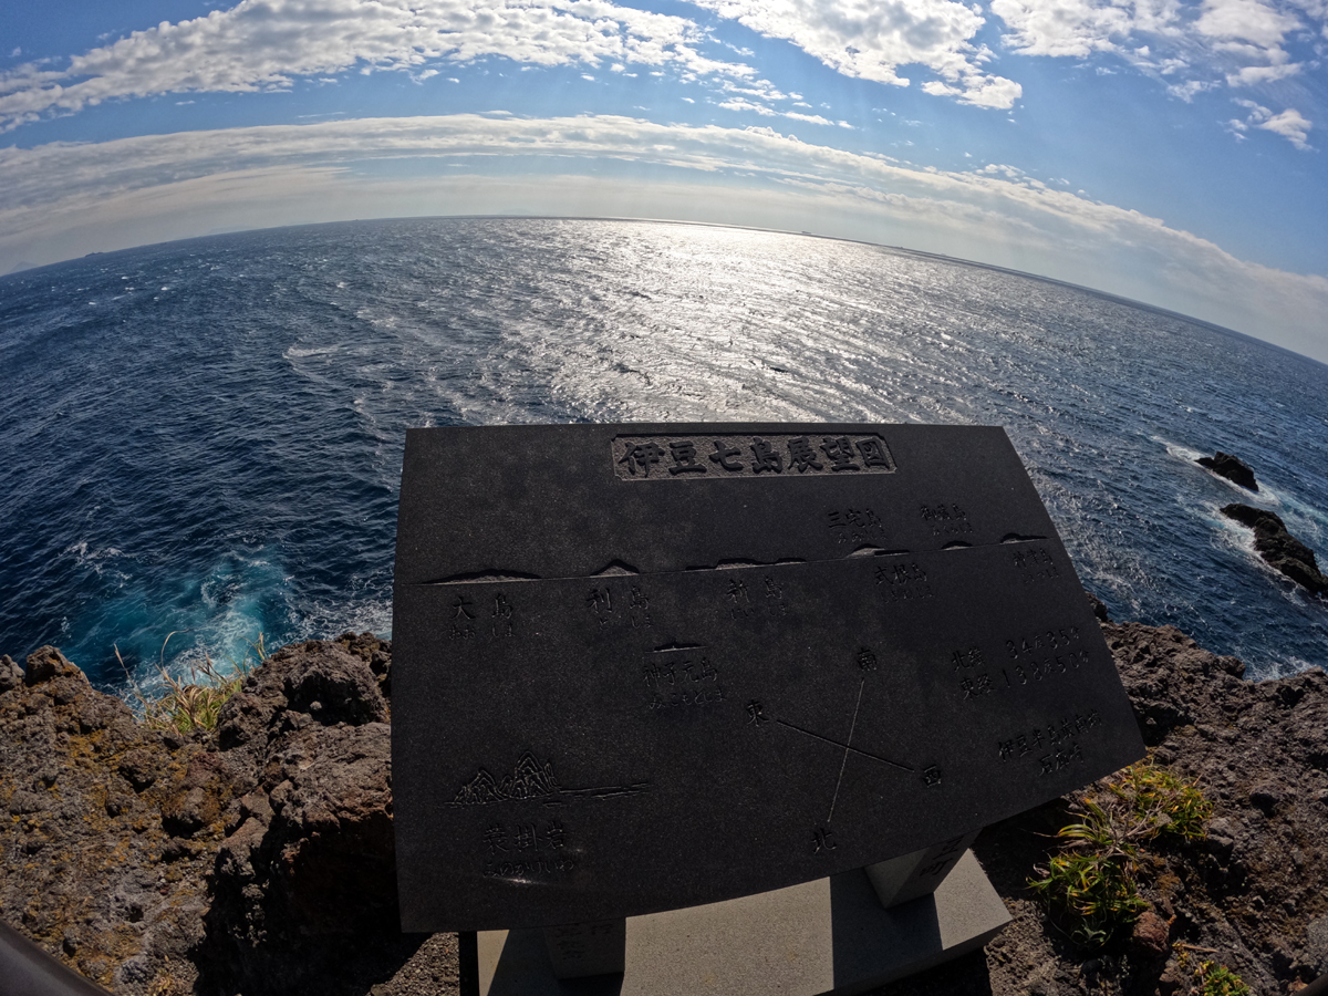
[[[1308, 129], [1308, 122], [1296, 125], [1292, 116], [1262, 105], [1247, 110], [1258, 118], [1247, 126]], [[503, 177], [485, 175], [490, 157], [503, 158]], [[616, 201], [610, 179], [576, 179], [578, 163], [606, 159], [625, 170], [622, 182], [614, 181]], [[361, 169], [373, 161], [390, 163], [390, 170]], [[457, 162], [470, 171], [441, 169]], [[709, 220], [784, 219], [784, 227], [806, 228], [814, 219], [827, 234], [1041, 272], [1328, 360], [1328, 279], [1242, 262], [1159, 219], [1048, 189], [1015, 167], [928, 171], [809, 145], [770, 127], [624, 117], [457, 114], [0, 149], [0, 270], [19, 259], [61, 258], [53, 255], [61, 247], [65, 255], [117, 248], [126, 244], [126, 232], [145, 234], [141, 242], [185, 238], [216, 227], [218, 216], [231, 226], [236, 218], [260, 226], [301, 216], [474, 212], [477, 205], [495, 203], [481, 194], [507, 190], [502, 185], [515, 182], [510, 174], [523, 162], [531, 163], [523, 203], [542, 189], [580, 191], [580, 201], [550, 193], [539, 202], [555, 214], [695, 219], [704, 195], [703, 218]], [[542, 173], [550, 162], [560, 173]], [[653, 166], [709, 179], [679, 187], [668, 199], [631, 173]], [[764, 215], [750, 212], [758, 201]], [[740, 202], [748, 207], [740, 211]]]

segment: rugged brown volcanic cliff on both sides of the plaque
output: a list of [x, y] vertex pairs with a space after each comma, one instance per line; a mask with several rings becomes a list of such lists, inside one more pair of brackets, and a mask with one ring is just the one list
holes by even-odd
[[[1078, 799], [988, 827], [1015, 922], [883, 993], [1170, 996], [1195, 959], [1280, 993], [1328, 971], [1328, 677], [1254, 684], [1174, 628], [1102, 628], [1155, 758], [1215, 803], [1207, 839], [1150, 854], [1134, 935], [1084, 951], [1027, 888]], [[385, 641], [292, 645], [185, 737], [58, 651], [0, 659], [0, 916], [116, 993], [456, 992], [456, 939], [396, 930], [389, 691]]]

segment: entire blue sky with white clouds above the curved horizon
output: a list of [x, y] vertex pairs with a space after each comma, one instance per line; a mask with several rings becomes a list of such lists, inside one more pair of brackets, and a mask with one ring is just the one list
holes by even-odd
[[1328, 363], [1325, 54], [1328, 0], [3, 4], [0, 274], [660, 218], [1011, 267]]

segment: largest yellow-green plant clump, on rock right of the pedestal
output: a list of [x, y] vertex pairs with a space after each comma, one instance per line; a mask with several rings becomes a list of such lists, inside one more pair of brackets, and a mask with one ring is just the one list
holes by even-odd
[[1149, 757], [1097, 782], [1081, 809], [1084, 818], [1057, 833], [1060, 854], [1029, 886], [1068, 915], [1076, 942], [1102, 947], [1147, 908], [1137, 884], [1143, 845], [1202, 839], [1212, 805]]

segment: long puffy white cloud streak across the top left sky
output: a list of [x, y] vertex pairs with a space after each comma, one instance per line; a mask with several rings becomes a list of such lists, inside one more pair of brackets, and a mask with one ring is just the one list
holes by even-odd
[[671, 65], [683, 78], [749, 78], [716, 61], [704, 32], [684, 17], [610, 0], [243, 0], [69, 60], [0, 73], [0, 125], [77, 112], [124, 97], [280, 90], [296, 78], [359, 69], [413, 70], [428, 62], [506, 56], [535, 65]]

